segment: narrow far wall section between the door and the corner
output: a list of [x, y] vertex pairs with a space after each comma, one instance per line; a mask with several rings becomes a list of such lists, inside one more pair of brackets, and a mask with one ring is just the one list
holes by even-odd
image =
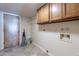
[[20, 44], [22, 42], [22, 33], [23, 30], [25, 29], [25, 34], [26, 34], [26, 39], [31, 38], [31, 22], [30, 18], [20, 16]]

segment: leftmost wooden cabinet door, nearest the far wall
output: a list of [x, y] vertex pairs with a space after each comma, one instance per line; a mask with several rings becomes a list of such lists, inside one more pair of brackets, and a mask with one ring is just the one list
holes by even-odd
[[37, 19], [38, 23], [47, 23], [49, 22], [49, 4], [43, 5], [40, 9], [37, 10]]

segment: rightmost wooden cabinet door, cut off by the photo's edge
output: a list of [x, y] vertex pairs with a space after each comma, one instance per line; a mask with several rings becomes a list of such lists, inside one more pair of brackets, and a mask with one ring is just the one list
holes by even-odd
[[65, 6], [65, 17], [79, 16], [79, 4], [78, 3], [66, 3]]

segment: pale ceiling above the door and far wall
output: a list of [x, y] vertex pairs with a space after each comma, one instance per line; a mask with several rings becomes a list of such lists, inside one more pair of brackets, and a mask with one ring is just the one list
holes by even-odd
[[0, 3], [0, 11], [18, 14], [26, 17], [33, 17], [37, 8], [44, 3]]

